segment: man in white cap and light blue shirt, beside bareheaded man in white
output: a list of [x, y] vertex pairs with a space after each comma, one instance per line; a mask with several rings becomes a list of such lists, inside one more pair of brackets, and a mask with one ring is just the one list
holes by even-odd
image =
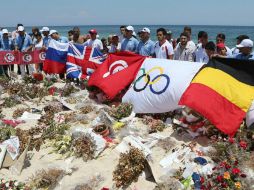
[[140, 31], [141, 41], [137, 47], [137, 53], [144, 56], [152, 56], [154, 54], [154, 45], [155, 43], [150, 40], [150, 29], [143, 28]]

